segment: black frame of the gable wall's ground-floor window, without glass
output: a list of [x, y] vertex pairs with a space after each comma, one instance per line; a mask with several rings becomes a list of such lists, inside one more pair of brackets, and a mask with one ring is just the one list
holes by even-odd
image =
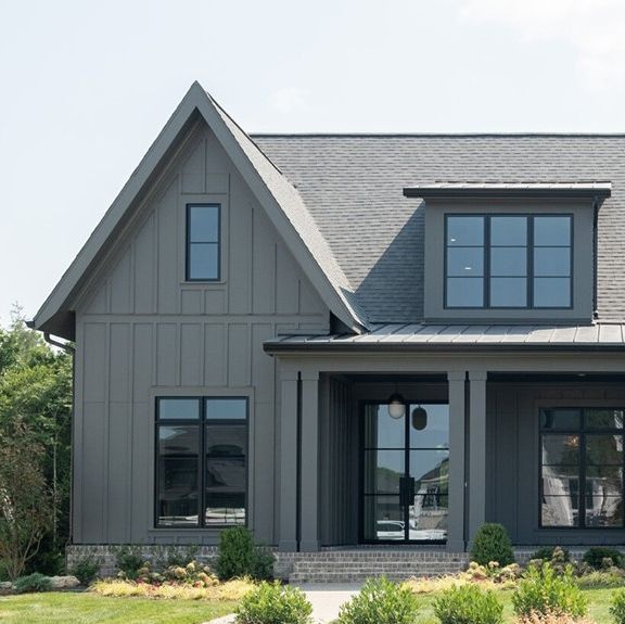
[[[206, 402], [216, 400], [243, 400], [245, 402], [245, 419], [207, 419]], [[197, 419], [160, 419], [160, 403], [162, 400], [196, 400], [199, 403]], [[155, 398], [154, 409], [154, 527], [170, 530], [207, 530], [207, 529], [226, 529], [228, 526], [247, 526], [250, 521], [250, 397], [248, 396], [224, 396], [224, 395], [203, 395], [203, 396], [157, 396]], [[244, 423], [245, 426], [245, 488], [244, 488], [244, 523], [206, 523], [206, 425], [207, 424], [238, 424]], [[194, 425], [199, 430], [199, 461], [197, 461], [197, 523], [193, 524], [164, 524], [160, 522], [160, 484], [161, 484], [161, 461], [160, 461], [160, 435], [161, 426], [184, 426]]]

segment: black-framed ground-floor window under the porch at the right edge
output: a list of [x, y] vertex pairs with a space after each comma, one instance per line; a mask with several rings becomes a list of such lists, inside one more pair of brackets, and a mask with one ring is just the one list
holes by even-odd
[[540, 526], [625, 529], [623, 408], [540, 410]]

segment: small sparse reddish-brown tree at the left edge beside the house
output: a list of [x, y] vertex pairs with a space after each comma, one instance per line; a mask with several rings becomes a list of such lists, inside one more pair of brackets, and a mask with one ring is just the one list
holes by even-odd
[[11, 580], [37, 555], [52, 520], [43, 449], [22, 423], [0, 436], [0, 561]]

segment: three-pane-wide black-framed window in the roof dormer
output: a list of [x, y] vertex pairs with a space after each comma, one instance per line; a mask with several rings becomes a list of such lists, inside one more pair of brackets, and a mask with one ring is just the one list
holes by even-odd
[[446, 215], [446, 308], [570, 308], [572, 215]]

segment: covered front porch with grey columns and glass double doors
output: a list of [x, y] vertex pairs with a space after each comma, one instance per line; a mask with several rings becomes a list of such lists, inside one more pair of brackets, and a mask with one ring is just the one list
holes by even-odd
[[[502, 523], [521, 548], [623, 542], [618, 351], [345, 346], [273, 349], [281, 374], [280, 550], [464, 552], [484, 522]], [[400, 418], [390, 415], [392, 395], [404, 402]], [[414, 422], [419, 408], [425, 425]], [[546, 466], [560, 461], [549, 459], [558, 445], [585, 440], [567, 430], [546, 437], [545, 415], [558, 423], [571, 410], [608, 410], [615, 419], [603, 440], [621, 466], [598, 477], [611, 485], [596, 501], [579, 492], [586, 485], [569, 474], [574, 470]]]

